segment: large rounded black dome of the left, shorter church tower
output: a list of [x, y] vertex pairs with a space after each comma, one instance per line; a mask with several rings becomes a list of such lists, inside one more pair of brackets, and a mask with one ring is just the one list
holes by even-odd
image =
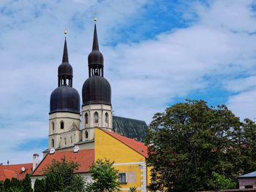
[[80, 96], [75, 88], [60, 86], [50, 95], [50, 112], [74, 112], [80, 114]]

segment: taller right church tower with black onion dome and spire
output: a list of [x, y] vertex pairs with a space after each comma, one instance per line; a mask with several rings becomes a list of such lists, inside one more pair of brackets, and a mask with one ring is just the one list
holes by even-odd
[[83, 83], [82, 140], [94, 139], [94, 128], [112, 131], [111, 87], [104, 77], [104, 58], [99, 51], [97, 27], [88, 56], [89, 78]]

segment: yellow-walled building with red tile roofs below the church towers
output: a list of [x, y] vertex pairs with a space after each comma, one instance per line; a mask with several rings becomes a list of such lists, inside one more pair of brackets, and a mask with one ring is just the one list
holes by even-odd
[[101, 128], [94, 128], [94, 149], [83, 149], [74, 147], [73, 150], [56, 150], [45, 155], [37, 169], [32, 174], [32, 183], [37, 178], [42, 178], [44, 169], [53, 159], [60, 161], [65, 158], [67, 161], [76, 161], [80, 164], [79, 174], [82, 174], [86, 181], [92, 181], [89, 169], [97, 159], [108, 158], [114, 161], [114, 168], [118, 170], [118, 180], [121, 183], [121, 191], [129, 191], [129, 188], [136, 187], [137, 191], [146, 191], [149, 182], [149, 173], [146, 167], [147, 147], [142, 143], [106, 131]]

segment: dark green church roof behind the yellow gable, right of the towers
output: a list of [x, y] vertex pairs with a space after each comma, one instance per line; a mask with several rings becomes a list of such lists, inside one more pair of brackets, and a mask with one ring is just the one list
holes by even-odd
[[143, 142], [146, 138], [147, 124], [143, 120], [113, 116], [113, 131], [124, 137]]

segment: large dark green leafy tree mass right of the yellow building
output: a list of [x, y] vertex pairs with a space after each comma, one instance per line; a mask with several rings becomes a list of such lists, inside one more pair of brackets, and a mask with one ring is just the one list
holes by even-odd
[[225, 105], [187, 101], [154, 115], [147, 130], [151, 191], [215, 188], [212, 172], [232, 182], [256, 169], [256, 125]]

